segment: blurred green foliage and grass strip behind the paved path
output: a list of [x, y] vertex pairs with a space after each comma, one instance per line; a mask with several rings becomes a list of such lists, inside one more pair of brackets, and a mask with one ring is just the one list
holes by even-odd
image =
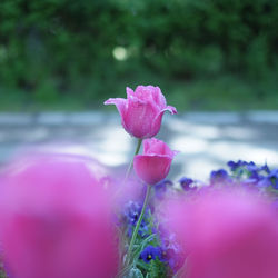
[[276, 109], [276, 0], [1, 0], [0, 109], [157, 85], [180, 110]]

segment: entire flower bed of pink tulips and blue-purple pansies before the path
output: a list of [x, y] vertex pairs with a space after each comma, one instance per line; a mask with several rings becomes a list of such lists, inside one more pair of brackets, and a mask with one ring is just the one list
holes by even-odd
[[155, 138], [165, 111], [177, 113], [161, 90], [127, 88], [105, 103], [138, 139], [126, 175], [53, 153], [6, 167], [0, 277], [277, 278], [278, 169], [229, 161], [208, 181], [175, 183], [178, 151]]

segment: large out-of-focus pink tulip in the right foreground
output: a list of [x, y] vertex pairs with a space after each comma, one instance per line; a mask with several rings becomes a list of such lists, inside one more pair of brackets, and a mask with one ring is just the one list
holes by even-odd
[[277, 215], [246, 191], [168, 203], [167, 224], [187, 251], [187, 278], [277, 278]]

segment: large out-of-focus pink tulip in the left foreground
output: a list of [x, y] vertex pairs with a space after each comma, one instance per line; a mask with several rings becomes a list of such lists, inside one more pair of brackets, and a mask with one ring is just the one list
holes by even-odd
[[19, 166], [0, 179], [9, 277], [115, 277], [119, 251], [109, 198], [87, 165], [42, 157]]

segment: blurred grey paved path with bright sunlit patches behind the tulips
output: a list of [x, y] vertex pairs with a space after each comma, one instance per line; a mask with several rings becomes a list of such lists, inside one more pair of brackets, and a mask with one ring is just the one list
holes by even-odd
[[[278, 111], [165, 115], [158, 138], [181, 151], [175, 179], [203, 179], [231, 159], [278, 166]], [[0, 113], [0, 163], [39, 148], [93, 156], [117, 168], [129, 161], [135, 143], [118, 113]]]

